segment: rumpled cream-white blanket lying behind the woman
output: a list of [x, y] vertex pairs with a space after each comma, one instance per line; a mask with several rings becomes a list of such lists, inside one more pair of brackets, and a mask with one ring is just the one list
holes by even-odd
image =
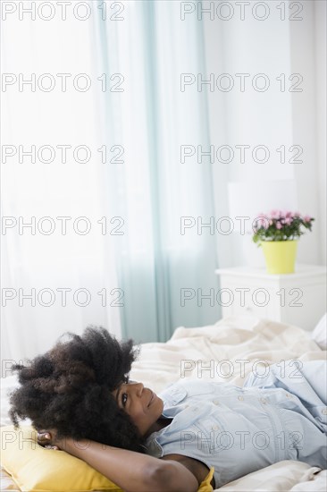
[[239, 316], [209, 327], [177, 328], [165, 344], [142, 344], [130, 377], [155, 392], [180, 377], [243, 386], [253, 369], [264, 372], [264, 367], [279, 362], [282, 370], [283, 361], [320, 360], [326, 353], [301, 328]]

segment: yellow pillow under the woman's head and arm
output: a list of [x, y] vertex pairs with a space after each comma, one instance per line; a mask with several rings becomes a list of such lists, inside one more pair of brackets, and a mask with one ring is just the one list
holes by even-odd
[[79, 458], [38, 445], [37, 432], [30, 426], [17, 430], [13, 426], [1, 428], [1, 461], [21, 490], [122, 492], [122, 488]]

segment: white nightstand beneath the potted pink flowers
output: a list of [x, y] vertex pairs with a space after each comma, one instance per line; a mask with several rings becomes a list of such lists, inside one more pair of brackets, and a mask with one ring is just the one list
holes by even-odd
[[251, 267], [215, 270], [222, 317], [248, 313], [312, 330], [326, 312], [326, 271], [312, 265], [298, 265], [289, 275]]

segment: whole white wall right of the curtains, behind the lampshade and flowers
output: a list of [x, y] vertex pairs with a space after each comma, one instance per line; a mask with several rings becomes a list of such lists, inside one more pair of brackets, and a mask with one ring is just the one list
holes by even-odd
[[[253, 188], [253, 183], [262, 187], [272, 180], [294, 180], [298, 195], [294, 208], [316, 219], [313, 233], [306, 233], [299, 242], [298, 262], [325, 264], [325, 3], [302, 2], [302, 13], [297, 13], [294, 6], [293, 10], [287, 8], [285, 20], [281, 19], [277, 3], [266, 3], [270, 12], [264, 21], [255, 19], [251, 12], [253, 4], [243, 21], [236, 8], [229, 21], [222, 21], [216, 13], [214, 19], [204, 15], [206, 75], [229, 73], [237, 85], [236, 73], [250, 74], [244, 92], [239, 87], [230, 92], [216, 88], [208, 92], [211, 143], [215, 148], [247, 144], [250, 150], [265, 145], [271, 152], [265, 164], [255, 163], [251, 158], [241, 164], [236, 156], [231, 164], [214, 163], [215, 215], [229, 214], [228, 182], [244, 182], [245, 186], [251, 183]], [[263, 11], [256, 13], [264, 15]], [[303, 20], [289, 21], [289, 15]], [[270, 87], [264, 92], [251, 86], [250, 81], [257, 73], [269, 78]], [[285, 74], [284, 91], [277, 80], [281, 73]], [[292, 73], [302, 75], [303, 81], [298, 85], [302, 92], [289, 92], [290, 84], [297, 81], [289, 81]], [[286, 149], [301, 146], [303, 155], [298, 158], [303, 163], [290, 164], [294, 152], [287, 152], [286, 163], [281, 164], [276, 151], [281, 145]], [[249, 193], [249, 199], [254, 201], [251, 187]], [[276, 198], [276, 208], [281, 201], [281, 197]], [[268, 211], [261, 205], [258, 203], [257, 212]], [[221, 267], [264, 265], [263, 255], [251, 242], [251, 235], [216, 233], [216, 238]]]

